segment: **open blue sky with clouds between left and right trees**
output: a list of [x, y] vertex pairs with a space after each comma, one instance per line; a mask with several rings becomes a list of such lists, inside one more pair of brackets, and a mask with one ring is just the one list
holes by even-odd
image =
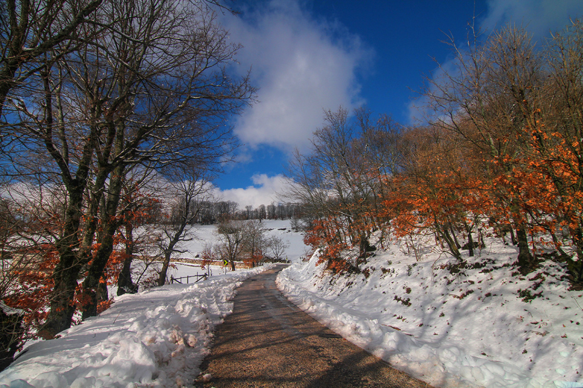
[[[582, 0], [237, 0], [223, 15], [237, 59], [252, 68], [258, 102], [234, 120], [237, 162], [215, 180], [224, 200], [278, 202], [294, 148], [307, 150], [324, 110], [366, 105], [403, 125], [419, 116], [419, 91], [437, 63], [452, 60], [443, 41], [462, 41], [468, 24], [507, 23], [535, 38], [583, 16]], [[437, 61], [437, 62], [436, 62]]]

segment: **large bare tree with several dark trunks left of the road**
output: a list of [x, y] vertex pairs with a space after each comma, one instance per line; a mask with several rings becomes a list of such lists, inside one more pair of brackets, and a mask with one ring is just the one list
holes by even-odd
[[[44, 168], [26, 173], [60, 181], [67, 193], [55, 242], [60, 259], [52, 275], [47, 337], [71, 324], [85, 268], [84, 316], [96, 311], [128, 172], [140, 163], [218, 169], [233, 145], [225, 120], [240, 112], [253, 91], [247, 78], [227, 74], [238, 46], [227, 42], [205, 2], [107, 3], [79, 30], [89, 37], [96, 33], [99, 40], [74, 54], [41, 58], [38, 78], [23, 85], [30, 97], [5, 104], [19, 115], [10, 140], [44, 159]], [[26, 168], [26, 162], [16, 167]]]

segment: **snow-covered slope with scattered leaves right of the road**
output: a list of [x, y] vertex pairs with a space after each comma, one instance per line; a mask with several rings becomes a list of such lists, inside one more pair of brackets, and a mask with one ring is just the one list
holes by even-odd
[[325, 272], [315, 254], [278, 284], [319, 321], [432, 385], [583, 387], [583, 291], [568, 290], [559, 264], [513, 275], [517, 252], [496, 241], [465, 268], [403, 251], [391, 245], [351, 276]]

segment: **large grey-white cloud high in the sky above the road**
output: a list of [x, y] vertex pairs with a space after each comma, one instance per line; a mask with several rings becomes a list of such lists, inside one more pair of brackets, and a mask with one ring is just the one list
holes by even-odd
[[341, 26], [315, 20], [296, 0], [265, 2], [224, 23], [243, 44], [237, 59], [252, 67], [259, 87], [258, 104], [236, 123], [248, 146], [301, 149], [321, 126], [324, 109], [361, 104], [356, 74], [371, 51]]

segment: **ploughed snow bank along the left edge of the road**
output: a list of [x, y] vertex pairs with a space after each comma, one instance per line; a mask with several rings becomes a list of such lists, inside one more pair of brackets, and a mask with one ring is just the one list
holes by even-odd
[[233, 310], [238, 270], [195, 284], [118, 297], [111, 308], [29, 346], [0, 373], [0, 388], [138, 388], [192, 385], [212, 330]]

